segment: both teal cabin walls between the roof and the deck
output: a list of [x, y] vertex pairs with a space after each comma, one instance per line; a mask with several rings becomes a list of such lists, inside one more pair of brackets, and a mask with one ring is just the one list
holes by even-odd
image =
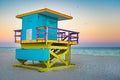
[[[42, 14], [32, 14], [22, 17], [22, 40], [27, 40], [27, 30], [32, 29], [32, 40], [36, 40], [36, 28], [48, 26], [57, 28], [58, 20]], [[41, 29], [39, 32], [45, 32], [45, 29]], [[26, 34], [25, 34], [26, 33]], [[48, 29], [48, 40], [57, 40], [57, 30]], [[28, 33], [29, 34], [29, 33]], [[40, 38], [44, 38], [44, 34], [40, 35]]]

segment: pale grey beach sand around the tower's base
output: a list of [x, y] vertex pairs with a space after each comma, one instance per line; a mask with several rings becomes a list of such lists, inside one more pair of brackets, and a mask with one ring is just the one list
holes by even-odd
[[72, 55], [78, 67], [42, 73], [16, 63], [14, 52], [0, 51], [0, 80], [120, 80], [120, 56]]

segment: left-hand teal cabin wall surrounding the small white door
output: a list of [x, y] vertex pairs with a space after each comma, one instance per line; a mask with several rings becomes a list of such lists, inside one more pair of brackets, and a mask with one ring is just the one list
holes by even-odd
[[26, 40], [27, 29], [32, 29], [32, 40], [36, 39], [37, 24], [38, 24], [38, 14], [24, 16], [22, 18], [22, 40]]

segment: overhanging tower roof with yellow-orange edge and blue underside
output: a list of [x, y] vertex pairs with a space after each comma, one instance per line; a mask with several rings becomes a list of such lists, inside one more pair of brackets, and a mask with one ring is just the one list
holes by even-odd
[[72, 16], [69, 16], [69, 15], [66, 15], [66, 14], [48, 9], [48, 8], [19, 14], [19, 15], [16, 15], [16, 18], [22, 18], [23, 16], [32, 15], [32, 14], [42, 14], [42, 15], [53, 17], [57, 20], [67, 20], [67, 19], [72, 19], [73, 18]]

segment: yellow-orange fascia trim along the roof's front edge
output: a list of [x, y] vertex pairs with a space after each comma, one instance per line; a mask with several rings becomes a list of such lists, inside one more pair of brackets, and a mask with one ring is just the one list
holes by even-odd
[[16, 15], [16, 18], [22, 18], [23, 16], [27, 16], [27, 15], [31, 15], [31, 14], [37, 14], [37, 13], [42, 13], [42, 12], [49, 12], [49, 13], [52, 13], [52, 14], [56, 14], [58, 16], [62, 16], [62, 17], [67, 18], [67, 19], [72, 19], [73, 18], [72, 16], [69, 16], [69, 15], [66, 15], [66, 14], [63, 14], [63, 13], [60, 13], [60, 12], [48, 9], [48, 8], [44, 8], [44, 9], [40, 9], [40, 10], [35, 10], [35, 11], [19, 14], [19, 15]]

